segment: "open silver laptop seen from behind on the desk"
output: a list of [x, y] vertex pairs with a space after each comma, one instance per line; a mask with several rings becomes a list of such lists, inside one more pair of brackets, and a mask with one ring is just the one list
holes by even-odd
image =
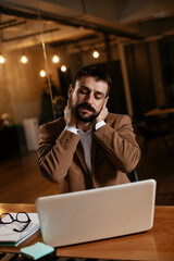
[[39, 197], [44, 243], [61, 247], [148, 231], [153, 225], [156, 181]]

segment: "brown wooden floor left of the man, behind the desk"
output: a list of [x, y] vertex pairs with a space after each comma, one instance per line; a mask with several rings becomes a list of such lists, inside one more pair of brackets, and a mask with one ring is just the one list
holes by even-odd
[[37, 166], [37, 153], [16, 157], [0, 165], [0, 202], [34, 203], [39, 196], [58, 192], [58, 185], [44, 178]]

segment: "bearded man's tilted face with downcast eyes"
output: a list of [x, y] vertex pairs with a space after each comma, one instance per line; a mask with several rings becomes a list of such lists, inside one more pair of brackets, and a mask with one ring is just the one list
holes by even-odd
[[92, 122], [108, 100], [107, 91], [108, 84], [103, 80], [96, 80], [91, 76], [78, 79], [74, 88], [70, 86], [69, 91], [74, 115], [82, 122]]

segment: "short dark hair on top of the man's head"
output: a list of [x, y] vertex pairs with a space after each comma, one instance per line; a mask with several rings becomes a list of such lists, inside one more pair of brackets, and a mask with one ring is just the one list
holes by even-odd
[[97, 65], [88, 65], [79, 70], [74, 78], [73, 87], [75, 87], [75, 84], [78, 79], [88, 76], [95, 77], [96, 80], [103, 80], [108, 84], [108, 91], [105, 95], [105, 97], [108, 97], [112, 85], [111, 78], [108, 73], [105, 73], [101, 67]]

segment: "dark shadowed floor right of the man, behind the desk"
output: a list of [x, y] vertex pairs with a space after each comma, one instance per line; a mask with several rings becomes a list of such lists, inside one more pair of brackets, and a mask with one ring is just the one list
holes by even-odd
[[156, 204], [174, 204], [174, 135], [154, 138], [148, 144], [140, 142], [141, 160], [137, 166], [140, 181], [154, 178], [157, 181]]

